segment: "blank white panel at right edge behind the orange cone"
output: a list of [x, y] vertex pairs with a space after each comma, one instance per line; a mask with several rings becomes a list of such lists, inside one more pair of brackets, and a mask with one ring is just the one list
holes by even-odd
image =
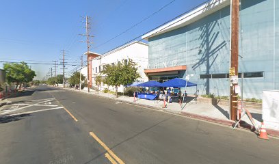
[[279, 131], [279, 90], [263, 91], [263, 121], [267, 128]]

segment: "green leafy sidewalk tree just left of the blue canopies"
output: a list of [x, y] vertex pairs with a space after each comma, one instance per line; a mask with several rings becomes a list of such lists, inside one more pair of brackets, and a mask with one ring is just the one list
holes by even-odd
[[103, 82], [116, 87], [116, 97], [118, 97], [118, 86], [133, 83], [140, 77], [137, 64], [132, 59], [123, 59], [117, 65], [106, 64], [102, 73], [106, 74]]

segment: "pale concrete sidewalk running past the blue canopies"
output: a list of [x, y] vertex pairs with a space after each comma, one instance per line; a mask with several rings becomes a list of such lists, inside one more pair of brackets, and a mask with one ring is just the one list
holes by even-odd
[[[65, 89], [79, 92], [79, 90], [75, 90], [73, 88]], [[114, 94], [103, 92], [98, 92], [97, 94], [94, 90], [90, 90], [90, 93], [88, 93], [87, 89], [81, 90], [81, 92], [87, 94], [94, 94], [96, 96], [102, 96], [104, 98], [111, 98], [122, 102], [128, 102], [134, 105], [150, 107], [152, 109], [158, 109], [168, 111], [171, 113], [186, 115], [191, 118], [207, 120], [218, 124], [226, 124], [228, 126], [233, 126], [233, 124], [235, 124], [235, 122], [229, 120], [229, 107], [226, 105], [212, 105], [206, 102], [190, 101], [187, 103], [183, 103], [183, 105], [179, 105], [177, 102], [166, 103], [166, 108], [163, 108], [162, 100], [145, 100], [138, 98], [136, 101], [134, 101], [133, 97], [119, 95], [119, 97], [116, 98]], [[261, 122], [263, 122], [262, 111], [258, 109], [250, 109], [249, 111], [252, 117], [254, 118], [254, 122], [257, 124], [258, 128], [261, 128]], [[243, 121], [241, 122], [241, 126], [243, 128], [248, 128], [250, 129], [250, 131], [254, 131], [254, 126], [252, 125], [252, 122], [250, 121], [247, 115], [245, 115], [242, 120]], [[269, 133], [270, 135], [279, 136], [279, 131], [267, 129], [267, 133]]]

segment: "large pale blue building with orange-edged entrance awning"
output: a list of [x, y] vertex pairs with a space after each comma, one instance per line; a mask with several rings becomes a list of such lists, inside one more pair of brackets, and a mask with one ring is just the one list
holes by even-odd
[[[279, 90], [279, 1], [242, 0], [239, 21], [243, 97], [261, 98], [263, 90]], [[229, 95], [230, 0], [204, 3], [142, 38], [149, 45], [150, 80], [191, 74], [200, 94]]]

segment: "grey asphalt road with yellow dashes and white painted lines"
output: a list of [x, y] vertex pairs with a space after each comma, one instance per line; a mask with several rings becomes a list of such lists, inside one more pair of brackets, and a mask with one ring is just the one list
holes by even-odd
[[278, 139], [52, 87], [25, 94], [1, 107], [0, 163], [279, 161]]

